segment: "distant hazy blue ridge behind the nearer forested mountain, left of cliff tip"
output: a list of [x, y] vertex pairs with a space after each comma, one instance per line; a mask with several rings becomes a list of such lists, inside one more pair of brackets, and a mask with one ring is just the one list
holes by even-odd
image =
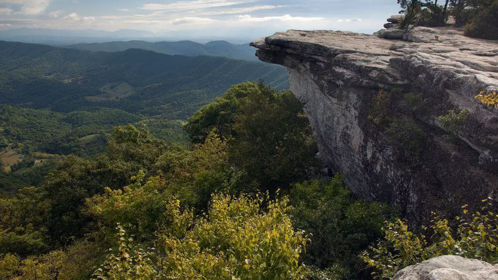
[[115, 41], [106, 43], [88, 43], [65, 46], [71, 49], [93, 52], [119, 52], [127, 49], [143, 49], [169, 55], [185, 56], [222, 56], [248, 61], [258, 61], [254, 49], [249, 44], [231, 44], [227, 41], [211, 41], [201, 44], [193, 41], [178, 42], [146, 42], [146, 41]]

